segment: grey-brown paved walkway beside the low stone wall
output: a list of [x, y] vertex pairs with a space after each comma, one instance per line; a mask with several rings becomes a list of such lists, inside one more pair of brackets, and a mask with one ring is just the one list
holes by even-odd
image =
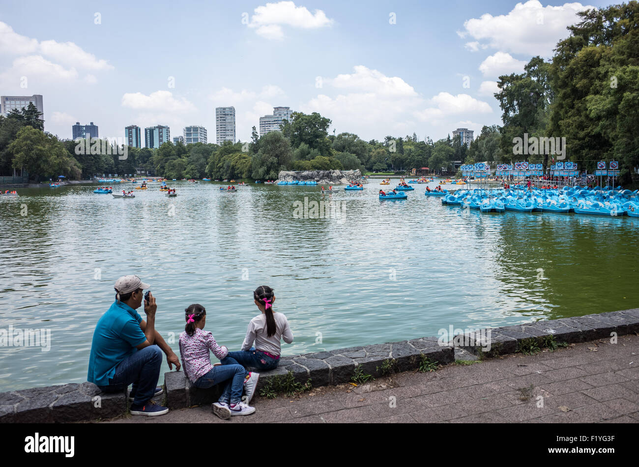
[[436, 372], [403, 372], [297, 397], [256, 397], [256, 413], [220, 420], [210, 406], [102, 423], [637, 423], [639, 336], [511, 354]]

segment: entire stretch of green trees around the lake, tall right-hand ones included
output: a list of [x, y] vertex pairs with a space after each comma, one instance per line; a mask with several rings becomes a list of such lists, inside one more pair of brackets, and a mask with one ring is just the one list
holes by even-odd
[[[142, 168], [166, 178], [277, 178], [281, 170], [360, 169], [406, 171], [429, 167], [452, 173], [462, 162], [543, 162], [553, 155], [513, 154], [513, 139], [566, 138], [567, 159], [591, 172], [599, 160], [617, 160], [621, 183], [639, 174], [639, 4], [636, 0], [578, 13], [569, 36], [550, 61], [533, 57], [523, 73], [502, 75], [495, 98], [502, 125], [484, 126], [470, 143], [417, 135], [364, 141], [356, 134], [329, 135], [330, 119], [293, 112], [281, 131], [250, 142], [189, 144], [166, 142], [157, 149], [128, 148], [128, 157], [78, 155], [76, 143], [42, 132], [33, 104], [0, 117], [0, 174], [24, 168], [52, 178], [134, 174]], [[112, 151], [111, 154], [115, 154]]]

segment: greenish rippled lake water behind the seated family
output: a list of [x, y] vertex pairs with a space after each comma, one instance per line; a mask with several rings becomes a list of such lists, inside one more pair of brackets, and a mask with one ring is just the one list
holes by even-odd
[[[125, 274], [151, 284], [156, 328], [176, 354], [191, 303], [206, 307], [220, 344], [239, 349], [263, 284], [295, 335], [282, 355], [639, 303], [639, 218], [482, 214], [442, 206], [426, 185], [380, 202], [378, 180], [324, 196], [319, 186], [174, 186], [174, 198], [155, 183], [135, 199], [75, 185], [0, 200], [0, 330], [50, 331], [49, 351], [0, 347], [0, 391], [85, 381], [95, 324]], [[339, 216], [299, 218], [305, 197], [309, 215], [325, 200], [343, 203]]]

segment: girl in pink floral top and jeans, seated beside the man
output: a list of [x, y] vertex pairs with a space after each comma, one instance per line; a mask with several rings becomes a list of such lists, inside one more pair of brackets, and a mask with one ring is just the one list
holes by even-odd
[[[187, 325], [180, 334], [180, 356], [187, 378], [197, 388], [210, 388], [213, 385], [222, 385], [222, 395], [218, 402], [213, 404], [213, 413], [220, 418], [229, 418], [231, 415], [250, 415], [255, 408], [242, 402], [242, 390], [245, 383], [246, 371], [242, 365], [216, 365], [211, 364], [210, 351], [217, 358], [225, 358], [229, 353], [225, 346], [220, 347], [213, 339], [213, 334], [204, 331], [206, 324], [206, 310], [197, 303], [190, 305], [185, 310]], [[256, 385], [249, 385], [251, 392]], [[247, 394], [250, 401], [252, 394]]]

